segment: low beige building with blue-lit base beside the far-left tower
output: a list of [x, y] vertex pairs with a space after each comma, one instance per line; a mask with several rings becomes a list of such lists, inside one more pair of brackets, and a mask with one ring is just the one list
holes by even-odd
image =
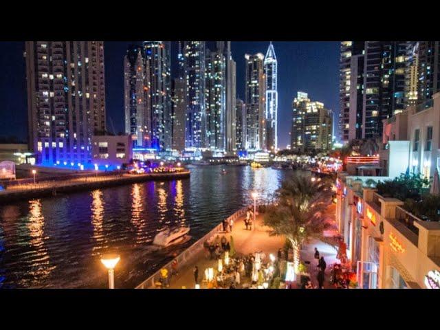
[[100, 168], [128, 164], [133, 158], [133, 148], [130, 135], [94, 135], [91, 138], [92, 162]]

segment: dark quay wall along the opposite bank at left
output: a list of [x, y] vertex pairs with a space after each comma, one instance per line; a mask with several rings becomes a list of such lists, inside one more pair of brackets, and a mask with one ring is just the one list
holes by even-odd
[[[37, 197], [54, 196], [58, 193], [69, 193], [80, 190], [91, 190], [96, 188], [105, 188], [109, 186], [119, 186], [122, 184], [133, 184], [135, 182], [151, 181], [151, 180], [170, 180], [184, 179], [190, 176], [190, 171], [185, 170], [179, 173], [147, 173], [140, 175], [115, 175], [115, 177], [102, 178], [96, 180], [90, 177], [91, 181], [69, 182], [69, 181], [45, 181], [44, 187], [35, 187], [32, 185], [28, 189], [23, 190], [3, 190], [0, 192], [0, 203], [9, 203], [11, 201], [20, 201], [23, 199], [32, 199]], [[52, 185], [51, 185], [52, 184]]]

